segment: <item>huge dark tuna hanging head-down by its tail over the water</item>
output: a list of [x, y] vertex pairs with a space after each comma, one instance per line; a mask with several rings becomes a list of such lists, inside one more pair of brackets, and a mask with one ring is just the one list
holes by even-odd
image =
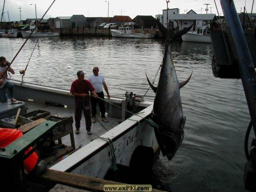
[[152, 111], [154, 124], [151, 125], [154, 126], [163, 156], [166, 155], [169, 160], [175, 155], [184, 137], [183, 127], [186, 117], [183, 116], [180, 88], [189, 82], [192, 75], [191, 73], [185, 82], [179, 83], [171, 55], [171, 42], [188, 30], [189, 28], [183, 29], [177, 33], [170, 31], [167, 35], [158, 86], [151, 84], [147, 77], [151, 89], [156, 93]]

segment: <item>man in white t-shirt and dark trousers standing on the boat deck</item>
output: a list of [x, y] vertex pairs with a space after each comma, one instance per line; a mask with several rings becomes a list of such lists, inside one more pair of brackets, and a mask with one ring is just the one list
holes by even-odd
[[[104, 90], [107, 93], [108, 99], [110, 99], [110, 95], [108, 92], [108, 87], [105, 82], [105, 78], [99, 74], [99, 68], [93, 67], [93, 75], [90, 75], [88, 77], [88, 81], [91, 82], [92, 86], [95, 89], [96, 94], [99, 96], [99, 98], [91, 97], [91, 105], [92, 105], [92, 123], [96, 122], [96, 114], [97, 114], [97, 103], [99, 103], [100, 107], [100, 113], [101, 113], [101, 121], [108, 122], [108, 120], [105, 117], [105, 101], [104, 101], [104, 93], [103, 93], [103, 87]], [[102, 87], [103, 85], [103, 87]]]

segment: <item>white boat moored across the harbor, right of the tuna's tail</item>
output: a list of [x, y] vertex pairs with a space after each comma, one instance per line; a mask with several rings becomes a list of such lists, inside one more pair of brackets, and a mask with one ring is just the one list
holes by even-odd
[[197, 27], [195, 31], [189, 31], [181, 36], [182, 41], [196, 43], [211, 43], [210, 27]]

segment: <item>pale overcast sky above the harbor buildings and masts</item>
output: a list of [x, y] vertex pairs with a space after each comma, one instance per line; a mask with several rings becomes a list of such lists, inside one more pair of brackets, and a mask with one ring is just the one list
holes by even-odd
[[[27, 18], [35, 18], [35, 10], [37, 18], [42, 18], [47, 9], [51, 6], [54, 0], [1, 0], [1, 13], [4, 6], [5, 21], [19, 21]], [[186, 13], [189, 10], [194, 10], [196, 13], [206, 13], [206, 4], [209, 9], [208, 13], [217, 14], [217, 9], [222, 14], [220, 1], [215, 0], [169, 0], [169, 9], [179, 8], [180, 13]], [[235, 0], [236, 10], [238, 13], [243, 11], [244, 6], [248, 13], [252, 11], [253, 0]], [[32, 5], [30, 5], [32, 4]], [[35, 9], [36, 5], [36, 9]], [[113, 17], [114, 15], [127, 15], [132, 19], [137, 15], [152, 15], [162, 14], [163, 10], [167, 9], [166, 0], [55, 0], [44, 19], [50, 17], [69, 16], [73, 14], [83, 14], [85, 17]], [[21, 11], [21, 12], [20, 12]], [[253, 5], [253, 12], [256, 12], [256, 2]]]

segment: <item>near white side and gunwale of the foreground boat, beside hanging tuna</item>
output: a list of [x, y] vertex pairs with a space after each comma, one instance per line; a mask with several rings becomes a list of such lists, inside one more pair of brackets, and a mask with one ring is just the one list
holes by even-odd
[[143, 119], [151, 114], [151, 110], [152, 106], [142, 110], [141, 117], [126, 119], [50, 169], [104, 179], [113, 165], [108, 140], [113, 142], [116, 163], [125, 166], [129, 166], [133, 151], [140, 145], [152, 147], [154, 152], [158, 151], [154, 129]]

